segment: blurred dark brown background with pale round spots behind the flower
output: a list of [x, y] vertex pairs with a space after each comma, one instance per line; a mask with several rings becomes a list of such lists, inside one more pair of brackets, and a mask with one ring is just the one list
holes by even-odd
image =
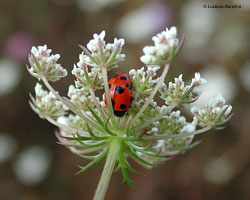
[[[241, 5], [205, 9], [203, 5]], [[69, 76], [53, 84], [62, 94], [73, 83], [71, 70], [93, 33], [106, 41], [125, 38], [127, 60], [118, 71], [140, 68], [139, 57], [152, 35], [176, 26], [184, 47], [166, 81], [200, 71], [208, 80], [198, 104], [221, 91], [234, 116], [219, 131], [160, 168], [122, 184], [114, 173], [107, 200], [250, 199], [250, 1], [249, 0], [0, 0], [0, 199], [87, 200], [102, 166], [74, 176], [87, 161], [56, 143], [55, 127], [28, 105], [36, 80], [26, 70], [32, 46], [47, 44], [61, 54]], [[110, 72], [110, 76], [114, 71]]]

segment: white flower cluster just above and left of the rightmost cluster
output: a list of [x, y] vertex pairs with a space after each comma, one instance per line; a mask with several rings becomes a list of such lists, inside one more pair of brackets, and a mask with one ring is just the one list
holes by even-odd
[[161, 93], [161, 98], [165, 101], [167, 105], [171, 103], [192, 103], [198, 99], [201, 95], [201, 89], [199, 86], [206, 84], [206, 80], [201, 78], [200, 73], [195, 73], [195, 78], [192, 79], [190, 85], [185, 86], [182, 79], [182, 74], [178, 78], [174, 79], [174, 83], [169, 82], [168, 88], [164, 84], [159, 90]]

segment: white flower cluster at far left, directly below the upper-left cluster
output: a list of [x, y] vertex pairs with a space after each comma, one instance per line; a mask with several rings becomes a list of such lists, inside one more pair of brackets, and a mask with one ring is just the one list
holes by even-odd
[[56, 99], [52, 92], [43, 90], [39, 83], [36, 84], [35, 93], [35, 98], [30, 95], [30, 105], [41, 118], [57, 118], [64, 115], [68, 110], [61, 101]]

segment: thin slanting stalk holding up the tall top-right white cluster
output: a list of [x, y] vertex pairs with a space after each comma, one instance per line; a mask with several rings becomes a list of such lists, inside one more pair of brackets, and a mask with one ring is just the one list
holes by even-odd
[[135, 115], [135, 117], [133, 118], [133, 120], [131, 122], [128, 122], [127, 124], [133, 124], [134, 122], [136, 122], [136, 120], [142, 115], [142, 113], [146, 110], [146, 108], [148, 107], [148, 105], [150, 104], [151, 100], [154, 98], [155, 94], [157, 93], [157, 91], [161, 88], [162, 83], [164, 82], [164, 79], [168, 73], [168, 69], [169, 69], [170, 63], [167, 63], [164, 67], [164, 70], [162, 72], [162, 75], [157, 83], [157, 85], [155, 86], [154, 90], [151, 92], [150, 96], [148, 97], [147, 101], [144, 103], [144, 105], [142, 106], [142, 108], [139, 110], [139, 112]]

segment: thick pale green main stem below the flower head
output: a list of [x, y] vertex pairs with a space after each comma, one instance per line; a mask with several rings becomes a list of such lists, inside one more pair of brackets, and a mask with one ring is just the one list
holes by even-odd
[[98, 183], [93, 200], [104, 199], [120, 148], [121, 142], [116, 139], [112, 140], [101, 179]]

